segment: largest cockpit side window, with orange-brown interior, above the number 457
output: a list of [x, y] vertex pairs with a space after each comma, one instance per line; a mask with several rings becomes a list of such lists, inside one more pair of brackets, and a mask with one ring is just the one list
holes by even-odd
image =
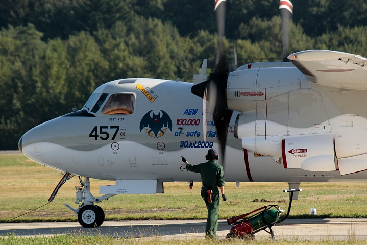
[[134, 100], [134, 95], [130, 93], [112, 94], [102, 108], [102, 113], [105, 115], [132, 114], [134, 112]]

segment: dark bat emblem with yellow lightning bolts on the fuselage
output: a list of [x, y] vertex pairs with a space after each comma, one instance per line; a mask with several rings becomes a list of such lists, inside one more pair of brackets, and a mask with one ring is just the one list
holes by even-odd
[[159, 138], [167, 132], [167, 128], [172, 131], [172, 120], [165, 111], [160, 110], [155, 114], [153, 110], [148, 111], [140, 121], [140, 132], [145, 129], [145, 133], [153, 138]]

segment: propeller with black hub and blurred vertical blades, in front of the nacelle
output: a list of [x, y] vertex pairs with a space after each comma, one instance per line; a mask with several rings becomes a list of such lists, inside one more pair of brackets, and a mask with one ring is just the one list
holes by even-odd
[[[207, 81], [192, 86], [191, 92], [209, 102], [210, 111], [218, 133], [219, 145], [224, 166], [225, 148], [229, 122], [233, 111], [227, 109], [226, 87], [228, 77], [228, 65], [223, 53], [223, 37], [225, 30], [226, 1], [215, 0], [214, 10], [218, 28], [218, 52], [214, 72], [209, 75]], [[204, 101], [206, 104], [206, 102]], [[203, 108], [204, 109], [204, 108]], [[204, 112], [206, 113], [206, 111]], [[203, 122], [205, 124], [205, 121]], [[204, 135], [206, 132], [203, 132]]]

